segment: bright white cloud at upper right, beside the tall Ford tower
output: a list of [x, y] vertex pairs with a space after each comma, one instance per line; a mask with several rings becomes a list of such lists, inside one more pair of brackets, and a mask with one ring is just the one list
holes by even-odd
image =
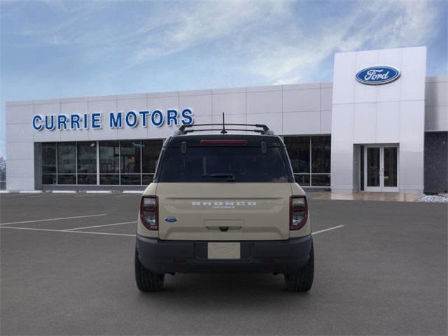
[[[268, 55], [257, 52], [262, 43], [258, 38], [251, 48], [260, 56], [248, 69], [273, 84], [318, 80], [316, 70], [335, 52], [421, 45], [435, 34], [436, 24], [435, 8], [428, 1], [361, 1], [342, 18], [321, 20], [312, 38], [297, 43], [271, 38]], [[300, 27], [286, 29], [301, 35]]]

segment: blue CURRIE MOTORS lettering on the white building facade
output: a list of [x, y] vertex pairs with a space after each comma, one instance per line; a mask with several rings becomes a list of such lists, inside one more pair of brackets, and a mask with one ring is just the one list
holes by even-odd
[[[106, 120], [104, 120], [106, 119]], [[33, 116], [31, 123], [36, 131], [52, 130], [100, 130], [103, 125], [109, 128], [134, 127], [161, 127], [163, 125], [190, 125], [193, 124], [193, 111], [174, 109], [163, 111], [127, 111], [103, 113], [71, 113]]]

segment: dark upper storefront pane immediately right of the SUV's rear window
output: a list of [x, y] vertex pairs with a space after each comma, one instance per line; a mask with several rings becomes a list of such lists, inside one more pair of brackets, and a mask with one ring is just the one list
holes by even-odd
[[293, 172], [309, 173], [309, 137], [284, 137]]

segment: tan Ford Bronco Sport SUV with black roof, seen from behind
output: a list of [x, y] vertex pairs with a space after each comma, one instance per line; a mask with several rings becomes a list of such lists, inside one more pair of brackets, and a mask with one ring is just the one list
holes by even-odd
[[221, 134], [197, 135], [204, 126], [216, 131], [185, 125], [165, 141], [141, 197], [137, 287], [160, 290], [167, 273], [262, 272], [284, 274], [289, 290], [309, 290], [307, 197], [283, 141], [265, 125], [226, 124], [254, 130], [228, 134], [222, 125]]

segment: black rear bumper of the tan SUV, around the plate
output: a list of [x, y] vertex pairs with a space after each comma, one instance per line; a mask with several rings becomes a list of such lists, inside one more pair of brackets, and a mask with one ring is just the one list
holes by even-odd
[[239, 241], [238, 260], [210, 260], [208, 241], [160, 240], [137, 235], [137, 255], [144, 267], [158, 274], [165, 273], [225, 273], [297, 272], [309, 260], [312, 237], [274, 240]]

